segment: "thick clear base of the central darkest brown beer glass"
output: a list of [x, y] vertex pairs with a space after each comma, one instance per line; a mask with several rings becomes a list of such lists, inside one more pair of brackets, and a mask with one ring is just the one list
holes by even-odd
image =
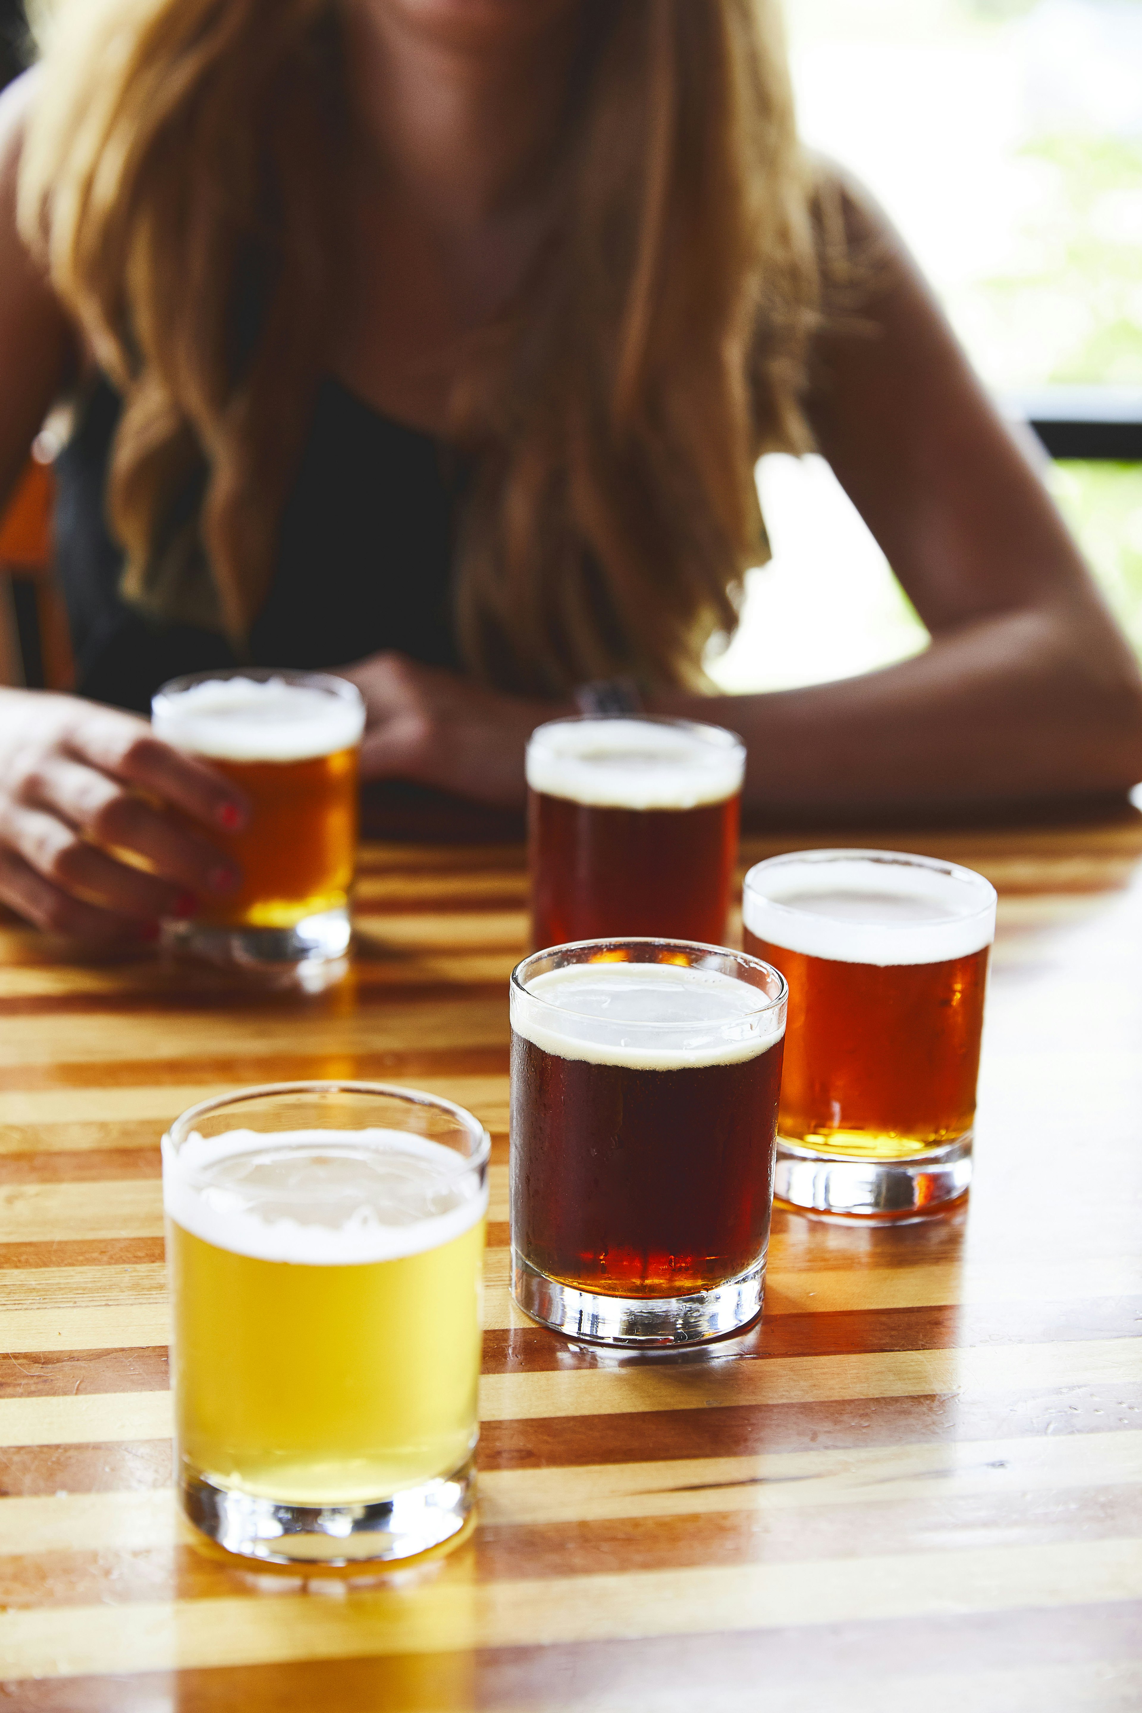
[[532, 1321], [594, 1345], [695, 1345], [738, 1333], [762, 1312], [765, 1256], [738, 1278], [688, 1297], [601, 1297], [539, 1273], [512, 1249], [512, 1297]]

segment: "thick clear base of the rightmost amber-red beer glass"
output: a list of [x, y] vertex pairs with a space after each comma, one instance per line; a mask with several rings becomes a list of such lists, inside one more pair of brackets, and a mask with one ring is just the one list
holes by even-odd
[[846, 1160], [777, 1137], [774, 1201], [798, 1213], [907, 1223], [942, 1213], [971, 1184], [972, 1132], [899, 1160]]

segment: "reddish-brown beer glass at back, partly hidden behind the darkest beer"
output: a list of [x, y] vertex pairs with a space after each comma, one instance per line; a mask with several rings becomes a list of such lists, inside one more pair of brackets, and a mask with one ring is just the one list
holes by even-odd
[[743, 774], [741, 740], [690, 719], [591, 714], [532, 731], [532, 946], [724, 940]]

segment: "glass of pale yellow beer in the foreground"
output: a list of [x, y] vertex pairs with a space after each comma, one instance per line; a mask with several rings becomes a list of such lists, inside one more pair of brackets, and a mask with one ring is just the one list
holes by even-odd
[[274, 1564], [404, 1559], [473, 1507], [486, 1131], [414, 1089], [283, 1083], [163, 1137], [176, 1485]]

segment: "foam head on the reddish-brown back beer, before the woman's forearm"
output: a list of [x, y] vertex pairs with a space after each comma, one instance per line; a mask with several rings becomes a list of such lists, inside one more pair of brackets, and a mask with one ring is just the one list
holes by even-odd
[[596, 809], [699, 809], [741, 790], [733, 731], [688, 719], [553, 719], [531, 735], [527, 785]]

